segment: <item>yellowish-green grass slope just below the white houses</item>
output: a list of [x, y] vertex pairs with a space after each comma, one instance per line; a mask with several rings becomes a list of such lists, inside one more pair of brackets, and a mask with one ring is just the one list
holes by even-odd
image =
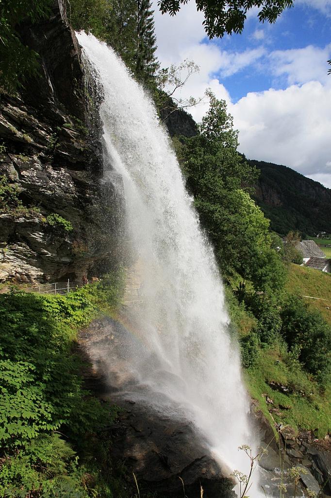
[[[310, 307], [318, 309], [331, 324], [331, 274], [298, 264], [290, 264], [286, 289], [304, 298]], [[329, 309], [328, 309], [329, 308]]]

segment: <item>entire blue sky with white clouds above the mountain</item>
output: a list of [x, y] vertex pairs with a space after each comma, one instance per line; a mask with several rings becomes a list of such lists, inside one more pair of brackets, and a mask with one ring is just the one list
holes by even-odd
[[[211, 88], [225, 99], [239, 129], [239, 150], [285, 164], [331, 188], [331, 0], [295, 0], [277, 22], [248, 13], [241, 35], [209, 40], [194, 0], [175, 17], [155, 1], [158, 57], [164, 67], [184, 59], [200, 66], [181, 97]], [[191, 108], [199, 121], [205, 102]]]

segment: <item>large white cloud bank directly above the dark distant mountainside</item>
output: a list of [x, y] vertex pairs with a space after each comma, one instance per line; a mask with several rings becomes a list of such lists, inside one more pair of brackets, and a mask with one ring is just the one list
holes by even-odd
[[331, 180], [326, 168], [331, 156], [331, 85], [309, 82], [249, 93], [229, 110], [247, 157]]

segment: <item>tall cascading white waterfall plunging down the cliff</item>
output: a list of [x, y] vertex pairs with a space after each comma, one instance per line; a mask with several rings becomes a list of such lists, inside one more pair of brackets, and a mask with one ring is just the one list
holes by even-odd
[[131, 352], [132, 373], [137, 385], [155, 393], [151, 403], [177, 407], [217, 458], [248, 473], [248, 458], [238, 447], [254, 443], [238, 345], [229, 337], [213, 251], [169, 138], [152, 101], [114, 51], [91, 35], [79, 33], [78, 39], [104, 90], [103, 137], [112, 167], [123, 177], [128, 232], [141, 273], [136, 320], [144, 346]]

